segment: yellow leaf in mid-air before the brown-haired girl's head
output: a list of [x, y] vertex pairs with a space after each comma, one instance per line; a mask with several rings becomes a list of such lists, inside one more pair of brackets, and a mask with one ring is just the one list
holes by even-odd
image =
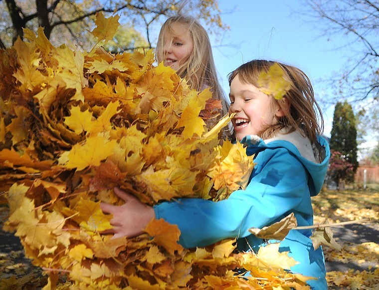
[[284, 79], [283, 68], [275, 62], [268, 72], [262, 71], [258, 78], [259, 90], [275, 99], [281, 99], [291, 88], [291, 82]]

